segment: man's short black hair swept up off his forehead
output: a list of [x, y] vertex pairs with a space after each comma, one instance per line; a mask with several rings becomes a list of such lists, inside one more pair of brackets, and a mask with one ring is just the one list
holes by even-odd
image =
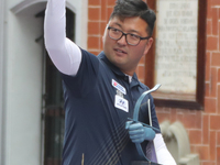
[[142, 0], [117, 0], [110, 20], [118, 16], [121, 20], [125, 18], [140, 16], [147, 23], [147, 33], [150, 36], [153, 34], [156, 14]]

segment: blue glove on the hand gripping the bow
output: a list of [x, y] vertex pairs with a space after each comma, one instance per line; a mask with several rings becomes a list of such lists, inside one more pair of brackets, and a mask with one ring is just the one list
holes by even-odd
[[125, 129], [129, 130], [133, 143], [142, 143], [144, 140], [152, 141], [155, 132], [151, 128], [143, 127], [140, 122], [128, 121]]

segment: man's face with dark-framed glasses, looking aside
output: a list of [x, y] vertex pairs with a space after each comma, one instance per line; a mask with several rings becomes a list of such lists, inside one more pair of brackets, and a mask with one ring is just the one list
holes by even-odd
[[[119, 18], [113, 18], [109, 21], [108, 26], [142, 37], [148, 36], [146, 32], [147, 23], [139, 16], [125, 18], [123, 21]], [[109, 30], [106, 29], [103, 35], [103, 51], [107, 58], [119, 67], [121, 72], [132, 76], [141, 57], [148, 52], [153, 38], [141, 40], [139, 45], [133, 46], [127, 43], [124, 35], [117, 41], [109, 37], [108, 32]]]

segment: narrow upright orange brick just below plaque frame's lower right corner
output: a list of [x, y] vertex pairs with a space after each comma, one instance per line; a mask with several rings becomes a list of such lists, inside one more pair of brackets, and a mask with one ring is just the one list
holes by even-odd
[[202, 144], [209, 143], [209, 117], [202, 117]]

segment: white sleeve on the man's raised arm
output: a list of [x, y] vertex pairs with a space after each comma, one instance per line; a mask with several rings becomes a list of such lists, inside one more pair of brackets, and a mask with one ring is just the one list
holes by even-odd
[[81, 63], [81, 51], [66, 37], [65, 0], [48, 0], [44, 40], [48, 55], [57, 69], [66, 75], [76, 75]]

